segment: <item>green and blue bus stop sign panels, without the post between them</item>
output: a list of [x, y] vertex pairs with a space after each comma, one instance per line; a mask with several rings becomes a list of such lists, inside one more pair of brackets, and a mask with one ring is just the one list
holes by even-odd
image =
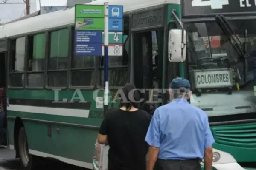
[[[75, 55], [104, 56], [104, 6], [75, 6]], [[122, 56], [123, 6], [108, 6], [108, 55]]]

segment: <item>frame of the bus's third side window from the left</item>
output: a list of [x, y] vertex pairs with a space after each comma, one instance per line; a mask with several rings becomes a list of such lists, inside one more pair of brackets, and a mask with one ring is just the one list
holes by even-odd
[[[69, 44], [68, 44], [68, 56], [67, 56], [67, 68], [66, 69], [56, 69], [56, 70], [49, 70], [48, 69], [48, 63], [49, 63], [49, 58], [50, 58], [50, 50], [51, 50], [51, 43], [50, 43], [50, 41], [51, 41], [51, 33], [52, 32], [55, 32], [55, 31], [59, 31], [59, 30], [62, 30], [62, 29], [68, 29], [68, 31], [69, 31]], [[61, 90], [63, 90], [63, 89], [67, 89], [68, 88], [68, 80], [69, 80], [69, 68], [70, 68], [70, 51], [71, 51], [71, 49], [70, 49], [70, 42], [71, 42], [71, 40], [70, 40], [70, 33], [71, 33], [71, 26], [62, 26], [62, 27], [58, 27], [58, 28], [53, 28], [53, 29], [50, 29], [50, 30], [48, 30], [48, 34], [47, 34], [47, 41], [46, 41], [46, 43], [47, 43], [47, 59], [46, 59], [46, 68], [45, 68], [45, 70], [46, 70], [46, 78], [45, 78], [45, 88], [46, 89], [61, 89]], [[66, 83], [66, 86], [62, 86], [62, 87], [60, 87], [60, 86], [49, 86], [48, 85], [48, 83], [49, 83], [49, 81], [48, 81], [48, 78], [49, 78], [49, 75], [48, 75], [48, 73], [49, 72], [51, 72], [51, 73], [53, 73], [53, 72], [64, 72], [64, 71], [66, 71], [66, 73], [67, 73], [67, 83]]]

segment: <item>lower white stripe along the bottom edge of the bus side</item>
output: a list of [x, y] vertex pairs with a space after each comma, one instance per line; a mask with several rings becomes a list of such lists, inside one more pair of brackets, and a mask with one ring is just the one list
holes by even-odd
[[74, 160], [74, 159], [64, 158], [64, 157], [61, 157], [61, 156], [56, 156], [56, 155], [52, 155], [52, 154], [49, 154], [49, 153], [39, 152], [37, 150], [31, 150], [31, 149], [29, 149], [29, 153], [32, 154], [32, 155], [41, 156], [41, 157], [45, 157], [45, 158], [47, 158], [47, 157], [48, 158], [55, 158], [55, 159], [58, 159], [60, 161], [65, 162], [67, 164], [73, 164], [73, 165], [76, 165], [76, 166], [79, 166], [79, 167], [85, 167], [85, 168], [93, 169], [93, 164], [88, 163], [88, 162], [77, 161], [77, 160]]

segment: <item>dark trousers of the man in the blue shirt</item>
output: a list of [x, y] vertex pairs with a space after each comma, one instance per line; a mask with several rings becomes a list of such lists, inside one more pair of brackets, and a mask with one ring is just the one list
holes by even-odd
[[164, 160], [158, 159], [159, 170], [201, 170], [199, 159]]

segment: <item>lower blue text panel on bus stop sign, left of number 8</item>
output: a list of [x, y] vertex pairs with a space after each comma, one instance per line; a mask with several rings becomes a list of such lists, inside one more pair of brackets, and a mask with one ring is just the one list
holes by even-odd
[[102, 43], [84, 43], [77, 42], [75, 55], [76, 56], [102, 56]]

